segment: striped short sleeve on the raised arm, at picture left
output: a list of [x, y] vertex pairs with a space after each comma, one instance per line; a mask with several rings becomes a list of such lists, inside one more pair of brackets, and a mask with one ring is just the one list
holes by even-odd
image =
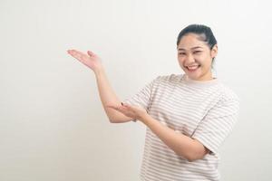
[[149, 105], [151, 103], [152, 88], [154, 86], [154, 83], [158, 81], [158, 79], [159, 77], [150, 81], [143, 88], [141, 88], [141, 90], [138, 91], [135, 95], [133, 95], [131, 98], [123, 100], [123, 102], [135, 106], [141, 106], [142, 108], [148, 111]]

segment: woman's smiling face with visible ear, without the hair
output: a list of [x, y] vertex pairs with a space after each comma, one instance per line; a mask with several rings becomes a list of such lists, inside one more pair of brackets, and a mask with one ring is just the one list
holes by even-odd
[[192, 80], [209, 81], [212, 79], [211, 62], [217, 52], [217, 45], [210, 50], [207, 43], [199, 40], [198, 34], [188, 33], [178, 45], [180, 67]]

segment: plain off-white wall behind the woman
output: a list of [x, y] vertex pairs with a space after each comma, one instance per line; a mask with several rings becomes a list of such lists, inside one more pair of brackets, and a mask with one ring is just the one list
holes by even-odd
[[209, 25], [216, 75], [241, 99], [220, 148], [223, 181], [268, 181], [272, 14], [269, 1], [0, 1], [0, 180], [139, 180], [145, 127], [111, 124], [92, 70], [66, 50], [102, 57], [121, 100], [181, 73], [176, 38]]

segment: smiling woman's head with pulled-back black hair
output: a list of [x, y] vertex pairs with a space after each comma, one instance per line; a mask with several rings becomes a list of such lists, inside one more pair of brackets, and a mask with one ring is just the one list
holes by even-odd
[[208, 26], [191, 24], [181, 30], [178, 40], [180, 67], [190, 79], [212, 79], [212, 63], [218, 52], [217, 40]]

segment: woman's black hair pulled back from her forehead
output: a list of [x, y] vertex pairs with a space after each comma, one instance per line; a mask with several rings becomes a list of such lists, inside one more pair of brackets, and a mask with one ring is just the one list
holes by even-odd
[[[199, 40], [207, 43], [210, 50], [218, 43], [209, 26], [203, 24], [190, 24], [179, 33], [177, 46], [179, 45], [181, 38], [188, 33], [198, 34]], [[214, 58], [212, 61], [214, 61]]]

